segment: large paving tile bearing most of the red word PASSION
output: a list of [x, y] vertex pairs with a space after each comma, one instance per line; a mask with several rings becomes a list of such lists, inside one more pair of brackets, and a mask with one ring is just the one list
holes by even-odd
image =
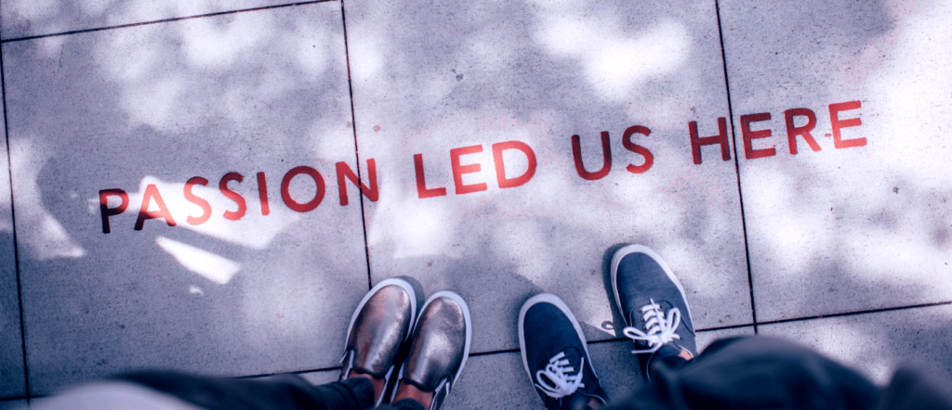
[[[339, 4], [4, 52], [36, 394], [143, 366], [243, 376], [337, 365], [367, 291], [361, 209], [339, 205], [334, 178], [336, 162], [354, 161]], [[282, 199], [297, 166], [325, 182], [306, 212]], [[238, 221], [227, 218], [239, 205], [216, 189], [230, 172], [244, 176], [226, 181], [246, 202]], [[200, 199], [190, 204], [194, 176], [208, 186], [192, 186]], [[290, 204], [307, 210], [315, 184], [292, 178]], [[128, 192], [129, 206], [109, 217], [107, 234], [99, 192], [108, 188]], [[143, 216], [162, 215], [156, 195], [177, 225], [160, 217], [136, 230], [143, 202]], [[193, 205], [203, 200], [205, 223]]]

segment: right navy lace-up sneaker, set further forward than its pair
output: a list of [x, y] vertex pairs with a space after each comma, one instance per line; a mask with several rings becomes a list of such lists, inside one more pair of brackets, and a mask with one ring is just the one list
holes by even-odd
[[658, 254], [640, 244], [622, 247], [611, 258], [611, 285], [645, 380], [655, 362], [697, 356], [684, 288]]

